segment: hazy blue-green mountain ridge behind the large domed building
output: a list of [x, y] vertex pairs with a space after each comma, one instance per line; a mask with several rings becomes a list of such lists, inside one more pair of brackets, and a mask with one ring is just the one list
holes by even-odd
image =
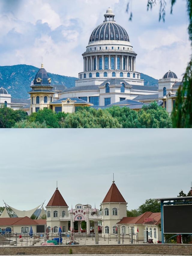
[[[4, 87], [12, 98], [29, 98], [28, 92], [31, 90], [30, 86], [35, 78], [39, 68], [18, 64], [12, 66], [0, 66], [0, 87]], [[51, 78], [51, 85], [64, 85], [67, 88], [75, 86], [75, 80], [77, 77], [68, 77], [58, 74], [48, 73]], [[144, 85], [157, 86], [158, 80], [141, 73], [141, 79], [144, 79]]]

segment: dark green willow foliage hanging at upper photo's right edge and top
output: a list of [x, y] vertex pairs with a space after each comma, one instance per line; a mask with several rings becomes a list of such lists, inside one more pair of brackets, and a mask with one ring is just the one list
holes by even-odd
[[[173, 6], [177, 0], [171, 0], [171, 14]], [[130, 11], [130, 3], [128, 0], [126, 11], [130, 13], [129, 20], [132, 20], [133, 14]], [[147, 11], [152, 10], [153, 6], [159, 3], [159, 21], [165, 21], [166, 0], [147, 0]], [[189, 18], [188, 34], [192, 46], [192, 0], [186, 0], [187, 13]], [[190, 53], [191, 54], [191, 53]], [[192, 55], [183, 76], [182, 86], [177, 91], [175, 107], [172, 112], [173, 128], [192, 128]]]

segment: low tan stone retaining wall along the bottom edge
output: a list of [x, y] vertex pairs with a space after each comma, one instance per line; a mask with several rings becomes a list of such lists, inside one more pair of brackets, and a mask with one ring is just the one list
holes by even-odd
[[55, 245], [0, 247], [0, 255], [13, 254], [175, 254], [192, 255], [192, 244]]

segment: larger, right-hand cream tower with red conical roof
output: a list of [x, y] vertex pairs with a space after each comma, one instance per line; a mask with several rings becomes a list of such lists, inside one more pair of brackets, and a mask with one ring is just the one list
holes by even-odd
[[117, 222], [127, 217], [127, 202], [117, 188], [115, 181], [101, 203], [102, 236], [117, 233]]

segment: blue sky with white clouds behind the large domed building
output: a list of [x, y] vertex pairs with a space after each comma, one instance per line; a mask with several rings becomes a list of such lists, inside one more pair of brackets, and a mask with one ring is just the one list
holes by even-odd
[[127, 0], [1, 0], [0, 65], [40, 67], [43, 56], [48, 72], [77, 77], [89, 36], [110, 6], [138, 54], [137, 71], [159, 79], [171, 69], [181, 78], [191, 54], [185, 3], [178, 0], [170, 15], [167, 0], [166, 22], [159, 23], [159, 7], [147, 12], [147, 0], [132, 2], [132, 22]]

